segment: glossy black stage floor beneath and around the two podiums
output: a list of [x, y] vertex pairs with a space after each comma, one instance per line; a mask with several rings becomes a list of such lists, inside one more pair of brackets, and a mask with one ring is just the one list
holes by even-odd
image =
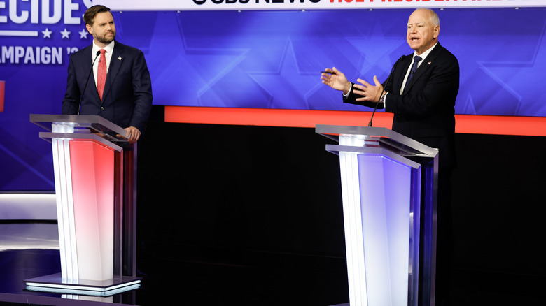
[[[6, 226], [0, 224], [1, 233], [9, 233], [0, 235], [0, 305], [337, 305], [349, 301], [344, 258], [150, 241], [139, 251], [143, 282], [137, 290], [106, 298], [27, 291], [25, 279], [60, 270], [58, 249], [43, 248], [55, 243], [44, 228], [51, 231], [56, 224], [42, 224], [38, 233], [36, 224], [20, 224], [16, 226], [22, 231], [19, 238], [13, 225], [8, 230]], [[33, 249], [33, 244], [42, 249]], [[545, 284], [546, 279], [537, 275], [456, 267], [450, 300], [451, 305], [464, 306], [546, 305]]]

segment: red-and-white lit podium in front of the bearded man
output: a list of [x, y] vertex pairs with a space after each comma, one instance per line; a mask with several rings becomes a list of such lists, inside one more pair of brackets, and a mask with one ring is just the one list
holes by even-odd
[[61, 272], [27, 279], [27, 289], [111, 296], [138, 288], [136, 146], [96, 115], [30, 121], [52, 143]]

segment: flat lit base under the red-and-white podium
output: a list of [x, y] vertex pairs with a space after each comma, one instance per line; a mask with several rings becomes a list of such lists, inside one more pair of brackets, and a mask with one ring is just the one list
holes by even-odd
[[138, 289], [141, 277], [114, 277], [104, 281], [79, 279], [77, 284], [62, 279], [61, 273], [25, 279], [27, 290], [50, 293], [77, 294], [81, 296], [113, 296]]

